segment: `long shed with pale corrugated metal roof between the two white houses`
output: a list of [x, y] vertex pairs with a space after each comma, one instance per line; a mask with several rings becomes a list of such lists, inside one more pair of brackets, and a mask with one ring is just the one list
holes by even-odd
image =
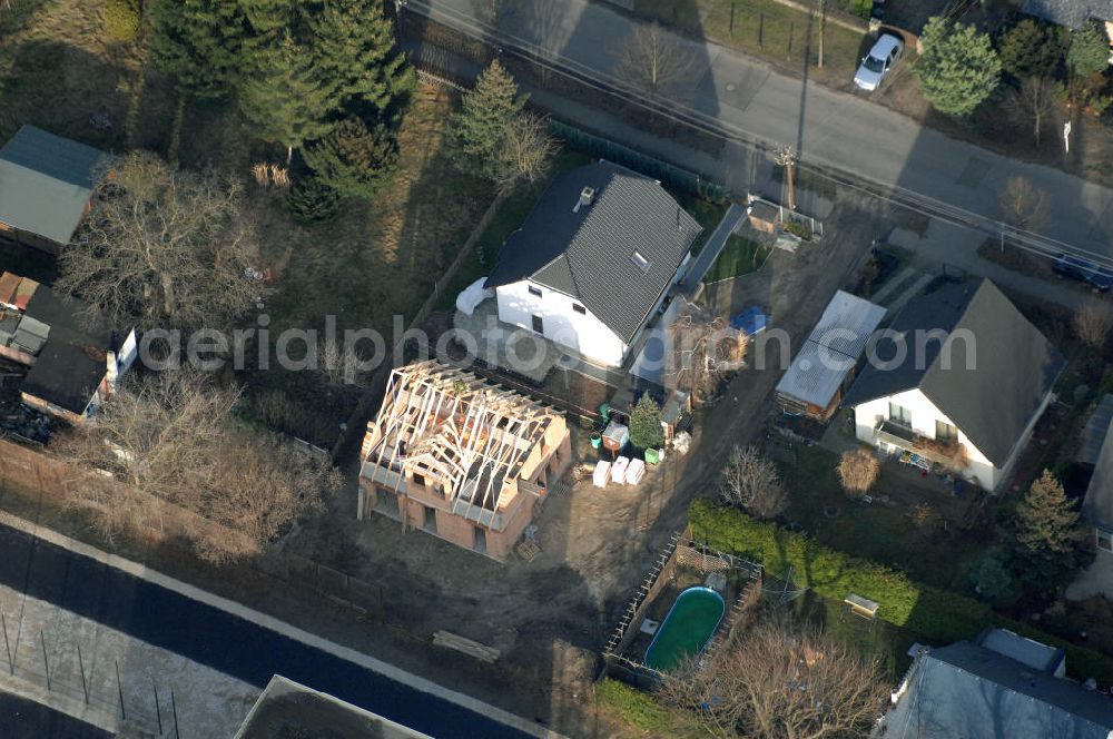
[[826, 408], [885, 317], [885, 308], [839, 290], [804, 343], [777, 392]]

